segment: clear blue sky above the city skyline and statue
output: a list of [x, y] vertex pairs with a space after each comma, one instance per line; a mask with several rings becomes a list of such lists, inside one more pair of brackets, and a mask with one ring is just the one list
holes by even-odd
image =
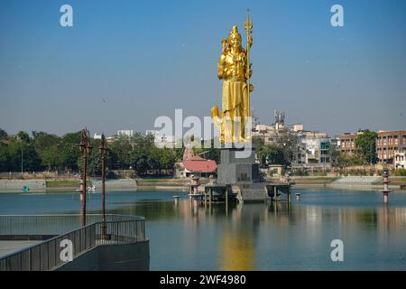
[[[60, 5], [73, 27], [60, 26]], [[345, 27], [330, 8], [343, 5]], [[406, 1], [0, 2], [0, 127], [144, 131], [221, 102], [221, 40], [254, 17], [254, 115], [336, 135], [406, 129]]]

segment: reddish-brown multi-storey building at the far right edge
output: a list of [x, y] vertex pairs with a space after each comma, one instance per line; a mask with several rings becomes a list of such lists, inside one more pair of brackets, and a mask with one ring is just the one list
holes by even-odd
[[406, 151], [406, 130], [378, 131], [376, 154], [380, 163], [393, 163], [395, 153]]

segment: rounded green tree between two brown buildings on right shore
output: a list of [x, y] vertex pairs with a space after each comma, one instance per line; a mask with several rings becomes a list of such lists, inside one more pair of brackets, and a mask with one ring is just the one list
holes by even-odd
[[375, 132], [368, 129], [363, 130], [362, 134], [359, 134], [355, 138], [356, 154], [361, 159], [361, 163], [376, 163], [376, 138]]

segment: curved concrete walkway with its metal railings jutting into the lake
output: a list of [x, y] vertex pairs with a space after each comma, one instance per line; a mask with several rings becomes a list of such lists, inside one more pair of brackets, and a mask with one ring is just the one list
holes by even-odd
[[80, 226], [80, 215], [0, 215], [1, 241], [37, 241], [0, 256], [0, 271], [149, 270], [143, 217], [87, 215], [87, 223]]

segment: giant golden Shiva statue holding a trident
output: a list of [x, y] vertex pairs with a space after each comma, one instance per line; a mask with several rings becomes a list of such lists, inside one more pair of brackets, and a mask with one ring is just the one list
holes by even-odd
[[250, 92], [254, 90], [250, 84], [252, 70], [249, 58], [253, 45], [253, 23], [249, 17], [244, 28], [246, 51], [237, 26], [233, 26], [228, 38], [222, 41], [223, 51], [217, 64], [218, 79], [223, 79], [222, 109], [219, 114], [218, 107], [212, 107], [211, 117], [220, 131], [221, 144], [244, 143], [249, 139], [249, 135], [245, 135], [245, 122], [250, 117]]

